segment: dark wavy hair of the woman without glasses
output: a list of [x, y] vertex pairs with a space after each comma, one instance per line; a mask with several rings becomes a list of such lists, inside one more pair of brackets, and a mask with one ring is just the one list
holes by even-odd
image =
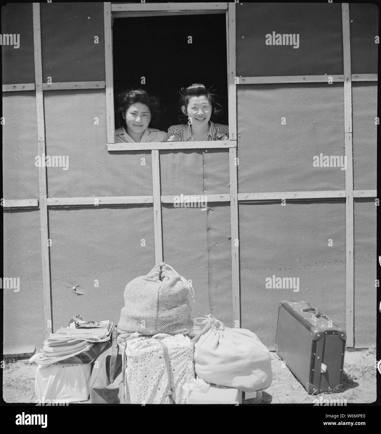
[[148, 95], [143, 89], [127, 89], [120, 92], [115, 100], [115, 121], [118, 122], [119, 126], [126, 128], [126, 122], [123, 119], [122, 113], [136, 102], [141, 102], [141, 104], [147, 105], [150, 109], [150, 124], [154, 124], [158, 121], [158, 118], [163, 112], [159, 99], [156, 96]]

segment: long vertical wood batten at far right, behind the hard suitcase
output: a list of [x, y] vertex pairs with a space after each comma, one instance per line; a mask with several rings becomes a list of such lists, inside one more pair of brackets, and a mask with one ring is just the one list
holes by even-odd
[[344, 128], [345, 155], [345, 299], [347, 347], [355, 346], [355, 268], [354, 268], [354, 204], [353, 204], [353, 143], [352, 143], [352, 85], [351, 85], [351, 46], [349, 29], [349, 5], [342, 3], [343, 60], [344, 60]]

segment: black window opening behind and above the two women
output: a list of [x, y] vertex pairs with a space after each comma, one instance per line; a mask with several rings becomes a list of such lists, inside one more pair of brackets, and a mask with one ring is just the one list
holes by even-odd
[[[192, 43], [188, 43], [189, 36]], [[150, 127], [167, 131], [183, 123], [181, 87], [212, 86], [223, 112], [215, 122], [228, 125], [225, 14], [117, 18], [113, 24], [114, 95], [145, 89], [160, 98], [165, 112]], [[145, 84], [141, 84], [145, 77]], [[115, 127], [119, 127], [115, 120]]]

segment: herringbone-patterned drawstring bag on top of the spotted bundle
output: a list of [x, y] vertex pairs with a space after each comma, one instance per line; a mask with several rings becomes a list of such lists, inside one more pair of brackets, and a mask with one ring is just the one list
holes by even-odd
[[192, 332], [193, 288], [184, 277], [164, 262], [125, 287], [118, 332], [168, 335]]

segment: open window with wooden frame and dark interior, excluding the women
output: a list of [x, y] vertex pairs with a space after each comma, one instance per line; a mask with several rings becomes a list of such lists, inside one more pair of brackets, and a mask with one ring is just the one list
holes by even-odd
[[[159, 97], [165, 111], [150, 127], [167, 131], [171, 125], [182, 123], [178, 102], [181, 87], [195, 82], [204, 83], [215, 89], [223, 108], [222, 115], [214, 122], [229, 125], [229, 130], [235, 130], [235, 122], [230, 125], [231, 118], [234, 117], [235, 121], [236, 117], [235, 101], [230, 101], [229, 105], [228, 98], [232, 92], [228, 77], [227, 3], [108, 5], [108, 10], [105, 6], [105, 46], [109, 151], [132, 150], [131, 144], [115, 144], [115, 128], [121, 125], [115, 119], [114, 97], [126, 88], [142, 88]], [[235, 147], [235, 143], [231, 142], [235, 139], [234, 131], [233, 135], [230, 134], [230, 143], [210, 142], [208, 147]], [[205, 146], [201, 142], [192, 143], [186, 148]], [[134, 149], [164, 148], [163, 145], [136, 145]], [[166, 148], [175, 147], [168, 142]], [[177, 142], [176, 148], [183, 146]]]

